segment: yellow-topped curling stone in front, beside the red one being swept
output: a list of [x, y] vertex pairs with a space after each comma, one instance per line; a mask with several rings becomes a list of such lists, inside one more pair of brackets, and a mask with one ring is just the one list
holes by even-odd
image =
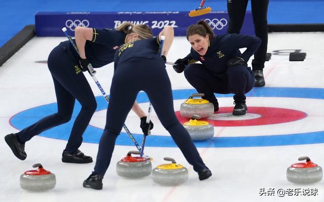
[[177, 164], [173, 158], [165, 157], [172, 164], [162, 164], [152, 171], [153, 181], [161, 185], [177, 185], [188, 180], [188, 170]]

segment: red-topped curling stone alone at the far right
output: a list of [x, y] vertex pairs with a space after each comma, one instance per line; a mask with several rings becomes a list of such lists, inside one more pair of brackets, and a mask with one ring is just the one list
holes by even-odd
[[303, 156], [298, 160], [306, 160], [305, 163], [293, 164], [287, 169], [287, 179], [290, 182], [306, 184], [319, 182], [323, 177], [323, 171], [320, 166], [314, 164], [309, 157]]

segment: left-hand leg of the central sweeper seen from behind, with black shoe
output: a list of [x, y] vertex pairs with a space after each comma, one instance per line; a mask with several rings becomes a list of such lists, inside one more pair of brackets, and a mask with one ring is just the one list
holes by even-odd
[[[92, 174], [83, 182], [84, 187], [102, 189], [102, 179], [109, 167], [116, 138], [121, 128], [123, 128], [127, 114], [131, 110], [139, 92], [137, 85], [140, 80], [135, 76], [137, 73], [134, 69], [134, 63], [129, 65], [127, 62], [118, 65], [114, 72], [110, 88], [106, 126], [100, 138], [96, 165]], [[125, 83], [126, 80], [127, 83]]]

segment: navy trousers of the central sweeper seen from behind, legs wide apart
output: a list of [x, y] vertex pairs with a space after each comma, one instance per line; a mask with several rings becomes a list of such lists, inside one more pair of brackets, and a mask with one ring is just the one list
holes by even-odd
[[171, 134], [188, 163], [196, 172], [206, 168], [190, 135], [176, 118], [171, 83], [161, 59], [131, 58], [117, 66], [112, 78], [107, 120], [100, 139], [93, 174], [104, 175], [110, 164], [115, 140], [139, 91], [152, 103], [161, 124]]

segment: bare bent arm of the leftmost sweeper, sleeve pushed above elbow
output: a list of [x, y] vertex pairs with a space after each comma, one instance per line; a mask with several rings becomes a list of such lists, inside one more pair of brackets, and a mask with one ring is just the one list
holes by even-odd
[[87, 40], [92, 41], [93, 29], [87, 27], [76, 27], [75, 28], [75, 43], [80, 53], [80, 58], [86, 59], [85, 45]]

